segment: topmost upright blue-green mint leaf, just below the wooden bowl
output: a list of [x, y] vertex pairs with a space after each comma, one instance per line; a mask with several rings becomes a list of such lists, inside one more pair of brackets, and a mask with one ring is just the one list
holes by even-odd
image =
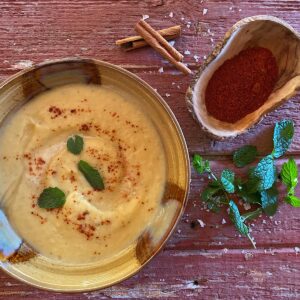
[[282, 156], [289, 148], [294, 135], [294, 123], [292, 120], [282, 120], [275, 124], [272, 152], [275, 158]]

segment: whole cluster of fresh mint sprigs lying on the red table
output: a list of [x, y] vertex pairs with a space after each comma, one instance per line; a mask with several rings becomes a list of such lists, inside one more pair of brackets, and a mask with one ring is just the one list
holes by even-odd
[[[240, 179], [234, 172], [224, 169], [220, 179], [213, 173], [208, 160], [199, 154], [193, 158], [193, 166], [199, 174], [208, 174], [210, 182], [201, 193], [201, 199], [212, 212], [219, 212], [222, 207], [229, 207], [230, 219], [236, 229], [247, 236], [253, 246], [255, 243], [249, 234], [246, 222], [258, 218], [261, 214], [272, 216], [278, 207], [277, 170], [276, 158], [281, 157], [288, 150], [294, 134], [294, 124], [291, 120], [283, 120], [276, 123], [273, 133], [274, 148], [272, 153], [263, 157], [256, 166], [250, 167], [247, 177]], [[254, 146], [246, 145], [233, 154], [233, 162], [236, 167], [244, 167], [253, 162], [257, 156]], [[287, 186], [285, 201], [294, 207], [300, 207], [300, 198], [295, 195], [298, 184], [297, 164], [293, 159], [284, 163], [280, 172], [281, 181]], [[236, 199], [244, 204], [250, 203], [256, 206], [253, 211], [241, 214], [236, 204]], [[233, 200], [234, 199], [234, 200]], [[258, 207], [257, 207], [258, 206]]]

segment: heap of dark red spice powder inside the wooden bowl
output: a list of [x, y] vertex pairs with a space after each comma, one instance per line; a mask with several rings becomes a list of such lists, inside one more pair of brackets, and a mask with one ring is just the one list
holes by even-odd
[[205, 91], [209, 114], [235, 123], [261, 107], [278, 79], [278, 67], [272, 52], [254, 47], [225, 61], [213, 74]]

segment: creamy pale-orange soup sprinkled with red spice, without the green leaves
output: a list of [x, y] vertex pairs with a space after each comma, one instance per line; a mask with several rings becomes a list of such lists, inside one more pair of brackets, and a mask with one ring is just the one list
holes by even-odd
[[[84, 140], [70, 153], [70, 136]], [[12, 114], [0, 132], [0, 191], [8, 218], [42, 255], [81, 264], [118, 255], [161, 214], [165, 158], [156, 129], [126, 95], [72, 84], [44, 92]], [[101, 173], [94, 190], [78, 171]], [[37, 205], [47, 187], [66, 194], [62, 208]]]

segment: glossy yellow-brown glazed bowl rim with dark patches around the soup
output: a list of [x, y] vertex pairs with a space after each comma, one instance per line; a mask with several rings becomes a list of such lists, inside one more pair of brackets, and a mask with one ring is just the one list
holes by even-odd
[[[164, 222], [162, 211], [162, 216], [154, 219], [155, 224], [151, 223], [117, 259], [112, 257], [105, 262], [64, 265], [36, 253], [22, 241], [22, 237], [21, 246], [14, 255], [8, 256], [5, 249], [0, 249], [0, 266], [5, 271], [31, 285], [55, 291], [104, 288], [138, 272], [170, 237], [185, 208], [190, 183], [187, 147], [180, 126], [168, 105], [137, 76], [105, 62], [70, 58], [42, 63], [17, 73], [0, 86], [0, 121], [15, 107], [30, 101], [35, 95], [59, 85], [78, 82], [123, 90], [138, 100], [157, 129], [165, 151], [167, 179], [162, 205], [167, 205], [169, 200], [175, 200], [179, 205], [170, 223]], [[0, 211], [0, 246], [4, 244], [7, 248], [13, 248], [19, 240], [12, 234], [7, 235], [11, 233], [8, 226], [5, 215]], [[159, 235], [155, 235], [156, 231], [159, 231]], [[3, 238], [5, 234], [6, 240]], [[153, 239], [153, 236], [159, 238]]]

